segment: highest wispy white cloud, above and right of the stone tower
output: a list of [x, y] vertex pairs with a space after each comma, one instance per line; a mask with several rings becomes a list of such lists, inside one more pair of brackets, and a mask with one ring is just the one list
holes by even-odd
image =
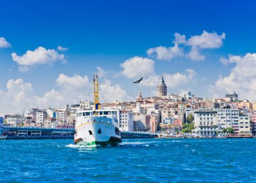
[[[191, 36], [189, 40], [186, 40], [185, 35], [175, 33], [175, 39], [172, 42], [174, 46], [150, 48], [147, 50], [147, 54], [149, 56], [156, 56], [159, 60], [171, 60], [178, 56], [190, 58], [191, 60], [205, 60], [201, 50], [220, 48], [225, 37], [224, 33], [218, 35], [216, 32], [209, 33], [203, 31], [201, 35]], [[189, 52], [185, 53], [184, 50], [189, 50]]]

